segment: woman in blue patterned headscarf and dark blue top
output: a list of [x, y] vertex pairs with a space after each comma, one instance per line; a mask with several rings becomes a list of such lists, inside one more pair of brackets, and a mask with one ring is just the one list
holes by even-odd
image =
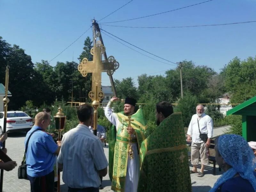
[[215, 139], [216, 162], [225, 171], [209, 192], [254, 192], [254, 154], [243, 137], [224, 134]]

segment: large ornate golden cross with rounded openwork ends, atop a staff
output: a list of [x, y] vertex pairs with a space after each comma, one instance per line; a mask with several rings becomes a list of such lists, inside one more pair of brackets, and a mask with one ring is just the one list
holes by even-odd
[[106, 48], [98, 41], [91, 49], [93, 60], [88, 61], [87, 58], [83, 58], [78, 65], [78, 71], [83, 77], [86, 77], [87, 73], [92, 73], [92, 90], [88, 94], [92, 101], [100, 101], [104, 97], [101, 91], [101, 72], [107, 72], [110, 76], [119, 67], [119, 63], [113, 56], [109, 56], [107, 61], [101, 61], [101, 55], [105, 51]]

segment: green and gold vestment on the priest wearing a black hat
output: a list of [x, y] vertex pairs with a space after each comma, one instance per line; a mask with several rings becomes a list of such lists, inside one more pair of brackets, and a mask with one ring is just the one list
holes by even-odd
[[[127, 170], [128, 156], [128, 136], [126, 131], [128, 119], [124, 112], [115, 113], [119, 123], [112, 126], [109, 131], [109, 178], [112, 181], [111, 189], [116, 192], [124, 192], [125, 177]], [[140, 151], [141, 142], [147, 137], [147, 123], [143, 118], [142, 110], [139, 109], [131, 116], [131, 126], [135, 131], [136, 138], [132, 139], [133, 143], [138, 144]]]

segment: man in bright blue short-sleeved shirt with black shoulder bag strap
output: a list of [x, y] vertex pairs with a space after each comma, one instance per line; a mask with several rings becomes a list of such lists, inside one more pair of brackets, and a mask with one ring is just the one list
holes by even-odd
[[35, 125], [27, 133], [25, 147], [30, 134], [35, 131], [28, 142], [26, 154], [27, 174], [30, 181], [31, 192], [53, 192], [54, 171], [56, 155], [60, 152], [61, 142], [58, 145], [52, 135], [45, 132], [51, 117], [46, 112], [39, 112], [35, 117]]

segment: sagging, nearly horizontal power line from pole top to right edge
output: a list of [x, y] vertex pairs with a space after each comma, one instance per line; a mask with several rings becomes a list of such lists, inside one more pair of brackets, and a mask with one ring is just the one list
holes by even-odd
[[209, 25], [191, 25], [191, 26], [173, 26], [173, 27], [133, 27], [133, 26], [118, 26], [118, 25], [105, 25], [111, 27], [126, 27], [126, 28], [184, 28], [184, 27], [205, 27], [205, 26], [221, 26], [221, 25], [235, 25], [235, 24], [242, 24], [242, 23], [253, 23], [256, 21], [244, 21], [244, 22], [236, 22], [236, 23], [223, 23], [223, 24], [209, 24]]

